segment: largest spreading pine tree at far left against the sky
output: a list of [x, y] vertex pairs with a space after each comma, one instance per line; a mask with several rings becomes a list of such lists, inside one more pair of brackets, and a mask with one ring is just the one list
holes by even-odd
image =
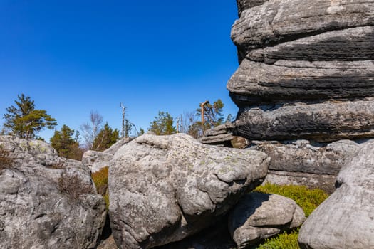
[[46, 110], [35, 109], [35, 104], [30, 97], [24, 94], [18, 95], [16, 106], [6, 107], [4, 114], [4, 127], [10, 134], [25, 139], [36, 139], [36, 134], [41, 130], [53, 129], [57, 123], [54, 118], [47, 115]]

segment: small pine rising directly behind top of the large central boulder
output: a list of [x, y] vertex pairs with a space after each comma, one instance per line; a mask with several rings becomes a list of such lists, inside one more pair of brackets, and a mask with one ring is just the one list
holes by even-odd
[[177, 132], [174, 119], [169, 112], [158, 112], [158, 117], [155, 117], [155, 120], [150, 123], [148, 130], [156, 135], [170, 135]]

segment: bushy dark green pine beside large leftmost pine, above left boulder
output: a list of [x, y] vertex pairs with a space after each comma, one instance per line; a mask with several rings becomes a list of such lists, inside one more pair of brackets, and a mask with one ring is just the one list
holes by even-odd
[[51, 146], [56, 149], [60, 157], [80, 160], [83, 154], [76, 139], [73, 138], [74, 130], [63, 124], [61, 131], [55, 131], [51, 137]]

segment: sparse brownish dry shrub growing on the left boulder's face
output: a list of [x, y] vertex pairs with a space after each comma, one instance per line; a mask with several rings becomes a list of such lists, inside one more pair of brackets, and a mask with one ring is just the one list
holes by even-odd
[[78, 175], [61, 175], [58, 179], [58, 189], [61, 193], [68, 194], [73, 200], [78, 200], [82, 194], [92, 193], [90, 184], [83, 184]]

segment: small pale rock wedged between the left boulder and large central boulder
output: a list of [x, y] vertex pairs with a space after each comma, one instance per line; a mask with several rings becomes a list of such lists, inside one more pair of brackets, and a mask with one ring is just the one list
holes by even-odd
[[88, 150], [83, 153], [82, 163], [88, 166], [92, 172], [96, 172], [109, 166], [111, 159], [113, 159], [113, 154]]

